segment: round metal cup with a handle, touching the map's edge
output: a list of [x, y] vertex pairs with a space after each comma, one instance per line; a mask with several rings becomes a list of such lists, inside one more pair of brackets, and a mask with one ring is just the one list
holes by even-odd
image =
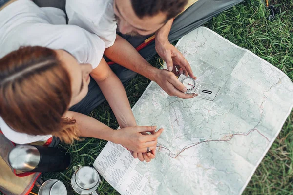
[[92, 167], [81, 167], [72, 175], [71, 185], [80, 195], [98, 195], [96, 189], [100, 184], [100, 176]]

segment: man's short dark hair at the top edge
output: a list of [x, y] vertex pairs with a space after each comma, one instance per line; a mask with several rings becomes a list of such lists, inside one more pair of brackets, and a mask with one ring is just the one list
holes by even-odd
[[139, 18], [163, 12], [167, 14], [167, 20], [177, 16], [187, 2], [188, 0], [131, 0], [134, 12]]

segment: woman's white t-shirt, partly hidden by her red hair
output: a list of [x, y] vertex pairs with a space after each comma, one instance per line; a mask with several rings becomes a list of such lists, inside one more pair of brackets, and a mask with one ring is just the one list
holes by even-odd
[[[105, 43], [97, 35], [78, 26], [66, 25], [62, 10], [39, 8], [30, 0], [17, 0], [0, 11], [0, 58], [27, 45], [65, 49], [79, 63], [90, 63], [93, 68], [99, 65], [105, 51]], [[1, 117], [0, 129], [5, 137], [18, 144], [52, 137], [16, 132]]]

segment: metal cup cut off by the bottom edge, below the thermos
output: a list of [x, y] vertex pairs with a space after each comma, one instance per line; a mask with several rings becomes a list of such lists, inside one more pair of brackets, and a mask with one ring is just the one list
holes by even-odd
[[58, 179], [44, 182], [39, 190], [39, 195], [67, 195], [65, 185]]

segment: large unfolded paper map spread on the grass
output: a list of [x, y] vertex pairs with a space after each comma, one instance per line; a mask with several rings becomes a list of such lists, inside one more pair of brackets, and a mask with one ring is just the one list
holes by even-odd
[[151, 82], [133, 113], [165, 129], [156, 158], [139, 162], [109, 142], [94, 167], [122, 195], [239, 195], [292, 112], [293, 83], [204, 27], [177, 48], [215, 97], [170, 97]]

